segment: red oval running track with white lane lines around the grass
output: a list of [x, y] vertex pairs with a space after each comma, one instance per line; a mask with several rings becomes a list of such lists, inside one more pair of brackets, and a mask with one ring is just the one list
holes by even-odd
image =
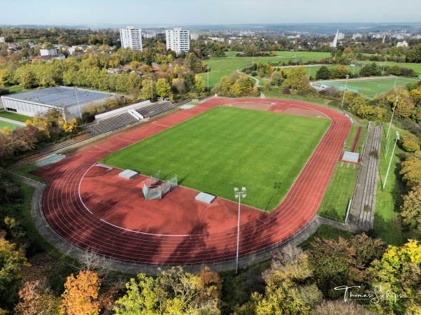
[[[76, 246], [115, 259], [160, 265], [185, 265], [235, 258], [236, 228], [207, 232], [194, 226], [187, 235], [164, 235], [156, 228], [126, 230], [95, 216], [81, 198], [83, 176], [95, 163], [115, 151], [166, 130], [223, 104], [253, 102], [319, 111], [331, 120], [319, 146], [302, 169], [285, 199], [270, 214], [243, 223], [240, 255], [262, 251], [298, 232], [315, 216], [351, 128], [348, 118], [323, 106], [279, 99], [212, 99], [192, 109], [166, 116], [159, 123], [119, 132], [79, 149], [59, 162], [36, 171], [50, 180], [44, 193], [45, 216], [56, 232]], [[322, 115], [323, 116], [323, 115]], [[102, 183], [97, 183], [101, 189]], [[218, 200], [218, 198], [217, 198]], [[235, 203], [232, 203], [235, 205]], [[187, 211], [189, 209], [186, 209]]]

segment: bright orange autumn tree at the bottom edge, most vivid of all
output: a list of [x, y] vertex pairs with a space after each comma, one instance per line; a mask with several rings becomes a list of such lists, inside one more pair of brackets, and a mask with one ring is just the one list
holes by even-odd
[[61, 309], [69, 315], [100, 314], [98, 274], [89, 270], [81, 271], [76, 278], [71, 274], [65, 283]]

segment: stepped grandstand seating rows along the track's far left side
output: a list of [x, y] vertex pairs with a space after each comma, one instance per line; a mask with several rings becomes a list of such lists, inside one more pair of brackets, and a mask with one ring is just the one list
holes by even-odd
[[[135, 111], [140, 113], [140, 115], [142, 115], [143, 118], [147, 119], [161, 115], [162, 113], [166, 113], [167, 111], [177, 109], [178, 107], [189, 102], [192, 102], [192, 99], [184, 99], [175, 104], [171, 104], [170, 102], [153, 103], [147, 106], [140, 107], [140, 109], [135, 109]], [[96, 125], [91, 125], [89, 128], [93, 134], [105, 134], [107, 132], [119, 130], [123, 127], [133, 125], [138, 122], [138, 119], [136, 119], [126, 111], [116, 116], [98, 120], [98, 123]]]

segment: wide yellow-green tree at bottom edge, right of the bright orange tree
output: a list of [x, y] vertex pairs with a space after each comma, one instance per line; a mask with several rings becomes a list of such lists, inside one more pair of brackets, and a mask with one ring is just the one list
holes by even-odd
[[[156, 279], [138, 274], [126, 283], [126, 295], [116, 301], [117, 315], [138, 314], [220, 314], [218, 300], [211, 298], [213, 286], [203, 286], [200, 276], [181, 267], [161, 272]], [[203, 300], [202, 294], [209, 298]]]

